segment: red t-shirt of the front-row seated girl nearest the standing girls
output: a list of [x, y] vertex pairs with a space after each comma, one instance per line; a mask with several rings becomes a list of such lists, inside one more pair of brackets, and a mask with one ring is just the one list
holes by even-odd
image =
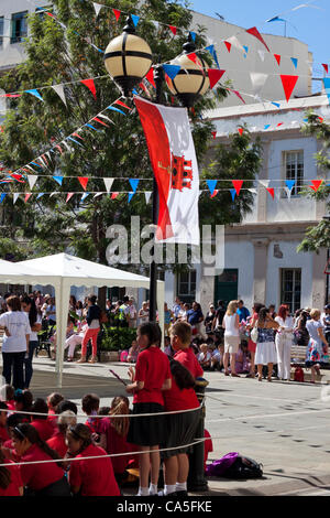
[[[99, 455], [107, 453], [102, 447], [90, 444], [75, 458]], [[110, 457], [73, 461], [69, 484], [80, 487], [81, 496], [120, 496]]]

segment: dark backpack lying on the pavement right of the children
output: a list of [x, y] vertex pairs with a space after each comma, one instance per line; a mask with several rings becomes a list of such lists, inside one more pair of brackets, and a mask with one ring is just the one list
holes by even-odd
[[208, 476], [233, 479], [261, 478], [263, 476], [263, 465], [232, 452], [218, 461], [213, 461], [212, 464], [207, 466], [206, 473]]

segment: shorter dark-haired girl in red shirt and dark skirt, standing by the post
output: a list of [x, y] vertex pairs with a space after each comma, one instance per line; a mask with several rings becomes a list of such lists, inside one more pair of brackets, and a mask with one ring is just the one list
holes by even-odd
[[[189, 370], [175, 359], [170, 360], [172, 388], [164, 392], [165, 410], [193, 410], [190, 412], [173, 413], [166, 416], [167, 436], [165, 449], [176, 447], [162, 452], [165, 464], [164, 495], [176, 493], [187, 496], [187, 478], [189, 473], [189, 457], [187, 453], [196, 438], [196, 429], [200, 419], [199, 401], [197, 399], [195, 378]], [[183, 445], [183, 447], [177, 447]]]

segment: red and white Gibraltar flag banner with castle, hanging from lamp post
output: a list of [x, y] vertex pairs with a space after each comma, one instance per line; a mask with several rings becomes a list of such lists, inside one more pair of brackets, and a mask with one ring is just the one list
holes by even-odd
[[186, 108], [135, 96], [160, 195], [155, 239], [199, 245], [199, 172]]

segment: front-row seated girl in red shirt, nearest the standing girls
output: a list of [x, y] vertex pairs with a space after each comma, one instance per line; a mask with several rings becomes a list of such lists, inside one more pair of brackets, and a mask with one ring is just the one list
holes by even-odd
[[[79, 458], [69, 468], [69, 484], [74, 495], [120, 496], [111, 458], [105, 450], [91, 442], [91, 432], [85, 424], [69, 427], [66, 432], [68, 454]], [[99, 456], [101, 458], [86, 458]], [[81, 460], [80, 460], [81, 458]]]

